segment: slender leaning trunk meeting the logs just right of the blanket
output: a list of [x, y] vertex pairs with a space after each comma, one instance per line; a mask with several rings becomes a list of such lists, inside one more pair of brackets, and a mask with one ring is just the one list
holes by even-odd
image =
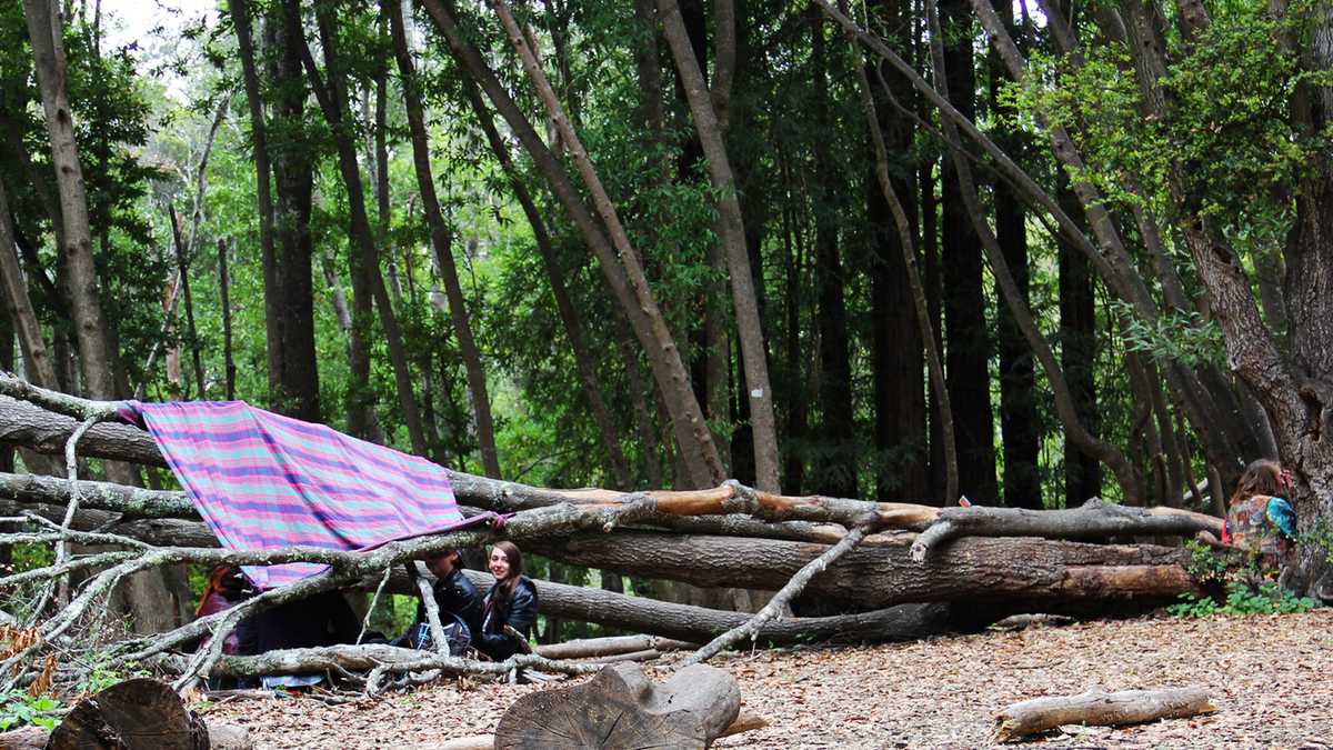
[[[421, 192], [421, 208], [427, 226], [431, 228], [431, 247], [435, 250], [436, 264], [444, 279], [445, 296], [449, 300], [449, 318], [453, 332], [459, 338], [459, 354], [468, 376], [468, 391], [472, 394], [472, 414], [477, 426], [477, 444], [481, 448], [481, 466], [487, 476], [500, 476], [500, 456], [496, 451], [495, 423], [491, 418], [491, 396], [487, 392], [487, 378], [481, 364], [481, 352], [472, 338], [472, 323], [467, 300], [463, 299], [463, 284], [459, 283], [459, 270], [453, 263], [453, 232], [445, 224], [440, 203], [435, 195], [435, 177], [431, 173], [431, 147], [427, 140], [425, 116], [421, 111], [421, 97], [412, 57], [408, 53], [407, 35], [403, 25], [403, 8], [397, 0], [388, 0], [384, 12], [389, 16], [393, 35], [393, 52], [403, 76], [403, 100], [407, 104], [408, 127], [412, 137], [412, 159], [416, 165], [417, 190]], [[489, 135], [489, 133], [488, 133]]]

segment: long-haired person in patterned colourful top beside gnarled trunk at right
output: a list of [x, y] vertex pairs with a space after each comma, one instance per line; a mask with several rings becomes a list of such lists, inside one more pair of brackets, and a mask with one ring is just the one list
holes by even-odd
[[1292, 472], [1276, 460], [1250, 462], [1226, 511], [1222, 542], [1249, 551], [1264, 577], [1276, 577], [1296, 548], [1296, 511], [1285, 495]]

